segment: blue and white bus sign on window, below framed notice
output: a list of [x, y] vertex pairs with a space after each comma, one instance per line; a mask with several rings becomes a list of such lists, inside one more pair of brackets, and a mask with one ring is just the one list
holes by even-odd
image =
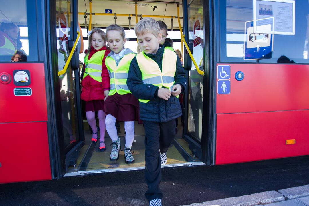
[[[264, 24], [258, 26], [258, 29], [269, 30], [273, 29], [273, 18], [260, 19]], [[273, 35], [265, 33], [253, 32], [253, 21], [245, 22], [245, 40], [244, 40], [244, 60], [252, 59], [268, 59], [273, 54]]]

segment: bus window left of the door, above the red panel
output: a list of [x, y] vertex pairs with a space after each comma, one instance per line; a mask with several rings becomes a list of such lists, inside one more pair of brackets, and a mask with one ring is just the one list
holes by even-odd
[[35, 2], [4, 1], [0, 19], [0, 61], [38, 61]]

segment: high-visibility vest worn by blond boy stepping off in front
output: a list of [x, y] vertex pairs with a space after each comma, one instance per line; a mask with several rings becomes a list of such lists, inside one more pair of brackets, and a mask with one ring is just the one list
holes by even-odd
[[[159, 88], [166, 87], [172, 89], [176, 74], [177, 54], [169, 48], [164, 48], [162, 58], [162, 72], [157, 62], [147, 57], [144, 52], [136, 55], [139, 69], [142, 72], [142, 81], [144, 84], [152, 84]], [[138, 99], [140, 102], [147, 103], [149, 99]]]

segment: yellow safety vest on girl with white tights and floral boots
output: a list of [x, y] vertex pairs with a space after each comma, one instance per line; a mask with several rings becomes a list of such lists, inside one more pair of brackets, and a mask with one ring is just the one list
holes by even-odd
[[118, 66], [116, 66], [116, 61], [111, 56], [106, 57], [105, 65], [110, 77], [109, 96], [116, 94], [116, 92], [120, 95], [131, 93], [127, 86], [127, 78], [130, 63], [135, 55], [135, 53], [126, 54], [122, 57]]

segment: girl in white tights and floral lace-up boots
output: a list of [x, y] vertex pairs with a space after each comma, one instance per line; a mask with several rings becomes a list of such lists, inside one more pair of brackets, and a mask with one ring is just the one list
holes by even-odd
[[116, 25], [106, 29], [107, 44], [112, 50], [106, 57], [106, 66], [110, 76], [110, 89], [105, 100], [106, 130], [112, 139], [113, 148], [109, 159], [116, 161], [121, 149], [120, 138], [115, 126], [116, 120], [125, 122], [125, 163], [133, 164], [132, 144], [134, 140], [134, 121], [139, 120], [138, 100], [131, 94], [127, 86], [129, 65], [136, 56], [129, 48], [124, 48], [126, 42], [125, 30]]

